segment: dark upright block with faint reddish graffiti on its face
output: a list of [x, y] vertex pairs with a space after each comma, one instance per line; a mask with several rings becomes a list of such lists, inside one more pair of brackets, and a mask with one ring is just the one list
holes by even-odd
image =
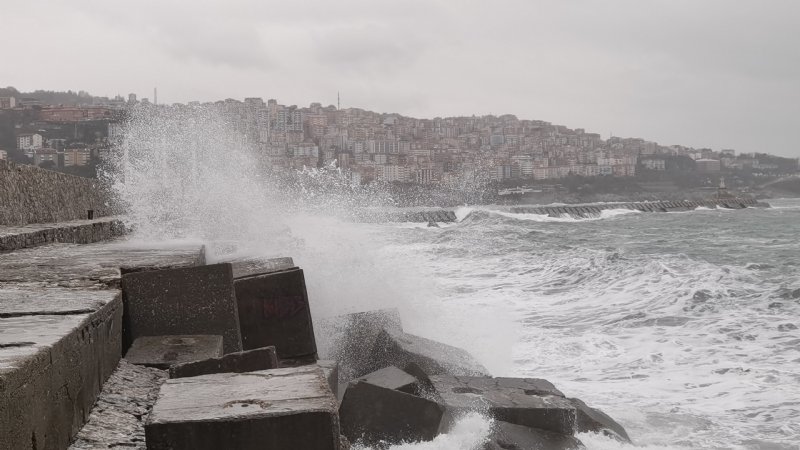
[[245, 350], [273, 345], [282, 359], [316, 356], [301, 269], [239, 278], [234, 286]]

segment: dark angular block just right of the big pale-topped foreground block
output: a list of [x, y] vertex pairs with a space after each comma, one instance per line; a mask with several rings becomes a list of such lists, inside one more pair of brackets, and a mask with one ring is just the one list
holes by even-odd
[[363, 381], [348, 385], [339, 407], [342, 434], [367, 445], [429, 441], [443, 414], [434, 401]]

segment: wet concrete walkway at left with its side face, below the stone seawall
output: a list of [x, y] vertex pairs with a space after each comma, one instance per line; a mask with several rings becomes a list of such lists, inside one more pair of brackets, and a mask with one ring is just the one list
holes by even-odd
[[122, 267], [203, 262], [124, 240], [0, 254], [0, 448], [66, 448], [85, 423], [120, 359]]

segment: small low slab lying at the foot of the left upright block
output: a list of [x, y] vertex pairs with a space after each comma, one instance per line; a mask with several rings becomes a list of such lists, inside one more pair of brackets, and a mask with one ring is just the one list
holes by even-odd
[[133, 341], [125, 359], [140, 366], [169, 369], [173, 364], [222, 356], [222, 336], [142, 336]]

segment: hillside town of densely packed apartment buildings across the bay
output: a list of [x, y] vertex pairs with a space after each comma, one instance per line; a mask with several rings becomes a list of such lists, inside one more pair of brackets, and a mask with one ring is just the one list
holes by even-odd
[[356, 183], [448, 184], [465, 175], [494, 182], [557, 182], [567, 177], [628, 178], [666, 171], [794, 173], [797, 159], [733, 149], [664, 146], [609, 137], [514, 115], [417, 119], [312, 103], [246, 98], [158, 104], [135, 94], [85, 96], [84, 104], [0, 97], [0, 159], [80, 171], [121, 138], [137, 109], [211, 108], [274, 169], [337, 167]]

